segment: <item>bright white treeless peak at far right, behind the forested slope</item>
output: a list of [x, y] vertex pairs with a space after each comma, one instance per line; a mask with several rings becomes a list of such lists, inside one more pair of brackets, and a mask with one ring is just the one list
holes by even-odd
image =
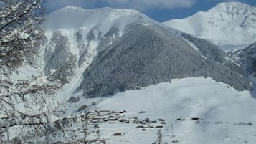
[[224, 2], [185, 19], [166, 21], [169, 27], [207, 39], [225, 52], [256, 42], [256, 7], [240, 2]]

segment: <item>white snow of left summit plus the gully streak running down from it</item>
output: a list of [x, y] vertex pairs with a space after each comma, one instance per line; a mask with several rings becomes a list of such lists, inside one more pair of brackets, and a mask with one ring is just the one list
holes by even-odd
[[[77, 57], [75, 71], [77, 77], [80, 77], [82, 72], [93, 62], [93, 58], [97, 56], [98, 51], [96, 48], [105, 34], [110, 32], [110, 29], [113, 27], [116, 27], [119, 30], [118, 37], [121, 37], [125, 29], [134, 23], [152, 24], [156, 23], [156, 21], [153, 21], [153, 19], [148, 18], [139, 11], [131, 9], [111, 9], [108, 7], [83, 9], [82, 7], [66, 6], [52, 12], [47, 17], [45, 23], [47, 49], [54, 49], [54, 45], [49, 44], [54, 32], [60, 32], [63, 36], [67, 37], [70, 47], [68, 50]], [[92, 30], [95, 39], [87, 39], [87, 34]], [[76, 40], [77, 32], [82, 34], [82, 41], [80, 43]], [[114, 41], [118, 37], [113, 35], [111, 39]], [[85, 49], [85, 47], [80, 47], [81, 45], [85, 45], [88, 50], [84, 62], [79, 65], [78, 59]]]

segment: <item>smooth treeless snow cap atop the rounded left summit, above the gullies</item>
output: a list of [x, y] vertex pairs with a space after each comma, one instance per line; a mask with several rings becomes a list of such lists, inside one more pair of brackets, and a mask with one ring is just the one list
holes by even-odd
[[87, 34], [90, 30], [97, 28], [101, 37], [112, 27], [118, 27], [120, 36], [125, 27], [133, 23], [151, 24], [155, 23], [139, 11], [132, 9], [111, 9], [108, 7], [100, 9], [83, 9], [82, 7], [66, 6], [50, 14], [46, 21], [47, 36], [56, 30], [68, 36], [72, 32], [82, 30]]

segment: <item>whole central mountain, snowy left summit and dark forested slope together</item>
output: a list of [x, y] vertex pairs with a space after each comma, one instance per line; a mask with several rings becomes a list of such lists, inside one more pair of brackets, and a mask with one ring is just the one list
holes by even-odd
[[184, 77], [251, 89], [242, 69], [214, 44], [130, 9], [54, 11], [47, 18], [42, 56], [36, 67], [62, 84], [75, 82], [74, 92], [89, 97]]

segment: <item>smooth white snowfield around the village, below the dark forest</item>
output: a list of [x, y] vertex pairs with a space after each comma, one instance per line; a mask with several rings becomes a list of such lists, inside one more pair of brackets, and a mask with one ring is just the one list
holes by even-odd
[[[84, 100], [84, 101], [82, 101]], [[82, 99], [80, 103], [85, 103]], [[93, 99], [95, 101], [97, 99]], [[125, 117], [144, 120], [166, 120], [162, 128], [163, 141], [171, 142], [171, 123], [175, 140], [182, 144], [251, 143], [256, 142], [256, 100], [250, 92], [237, 92], [232, 87], [211, 78], [190, 77], [144, 87], [141, 90], [119, 92], [113, 97], [98, 98], [97, 110], [126, 110]], [[71, 108], [71, 107], [70, 107]], [[141, 111], [144, 114], [139, 114]], [[75, 112], [75, 111], [74, 111]], [[177, 118], [199, 117], [196, 121], [177, 121]], [[239, 125], [249, 123], [253, 125]], [[221, 123], [218, 123], [221, 122]], [[138, 124], [103, 123], [103, 137], [111, 144], [153, 143], [157, 128], [136, 128]], [[157, 124], [159, 125], [159, 124]], [[124, 133], [113, 136], [113, 133]]]

